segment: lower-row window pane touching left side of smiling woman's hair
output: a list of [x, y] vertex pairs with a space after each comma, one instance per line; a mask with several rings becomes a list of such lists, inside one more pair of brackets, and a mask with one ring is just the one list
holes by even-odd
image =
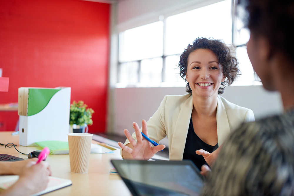
[[166, 70], [165, 70], [165, 81], [168, 83], [183, 83], [185, 86], [186, 82], [180, 76], [180, 68], [178, 63], [180, 55], [172, 55], [166, 57]]

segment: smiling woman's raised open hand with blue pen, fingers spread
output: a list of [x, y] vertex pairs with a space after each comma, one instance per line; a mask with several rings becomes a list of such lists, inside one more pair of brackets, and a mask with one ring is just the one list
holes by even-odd
[[[123, 143], [118, 142], [118, 145], [123, 149], [122, 155], [124, 159], [149, 160], [155, 155], [155, 153], [165, 148], [165, 145], [152, 147], [151, 143], [143, 138], [137, 123], [133, 123], [133, 128], [136, 133], [137, 142], [126, 129], [123, 130], [123, 133], [126, 135], [131, 145], [127, 144], [128, 146], [126, 146]], [[147, 124], [145, 120], [142, 120], [142, 133], [148, 137]]]

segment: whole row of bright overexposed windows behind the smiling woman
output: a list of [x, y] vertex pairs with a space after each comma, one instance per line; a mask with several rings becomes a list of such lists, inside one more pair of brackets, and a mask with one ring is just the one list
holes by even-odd
[[116, 86], [186, 86], [177, 65], [180, 54], [197, 37], [219, 39], [228, 46], [233, 40], [242, 73], [233, 85], [259, 85], [245, 46], [250, 32], [238, 17], [232, 24], [231, 2], [220, 1], [120, 32]]

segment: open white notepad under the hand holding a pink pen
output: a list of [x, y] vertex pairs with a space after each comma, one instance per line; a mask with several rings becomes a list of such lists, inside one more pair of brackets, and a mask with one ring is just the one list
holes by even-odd
[[[5, 190], [11, 185], [13, 185], [18, 179], [19, 179], [18, 175], [0, 176], [0, 192], [1, 192], [1, 189]], [[49, 176], [49, 183], [47, 185], [47, 188], [31, 196], [43, 195], [47, 192], [51, 192], [57, 189], [61, 189], [63, 187], [70, 186], [71, 184], [72, 184], [71, 180]]]

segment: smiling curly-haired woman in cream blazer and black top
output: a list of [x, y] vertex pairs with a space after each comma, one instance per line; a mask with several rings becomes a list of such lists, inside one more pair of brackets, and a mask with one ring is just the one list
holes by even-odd
[[[141, 131], [156, 143], [167, 136], [170, 160], [190, 159], [200, 169], [210, 164], [202, 154], [212, 153], [241, 123], [253, 121], [254, 115], [218, 96], [239, 74], [238, 61], [223, 42], [196, 38], [181, 54], [178, 65], [188, 94], [165, 96], [148, 122], [142, 120]], [[125, 144], [118, 143], [124, 159], [148, 160], [165, 148], [152, 147], [142, 139], [137, 123], [133, 128], [133, 136], [124, 130], [128, 139]]]

